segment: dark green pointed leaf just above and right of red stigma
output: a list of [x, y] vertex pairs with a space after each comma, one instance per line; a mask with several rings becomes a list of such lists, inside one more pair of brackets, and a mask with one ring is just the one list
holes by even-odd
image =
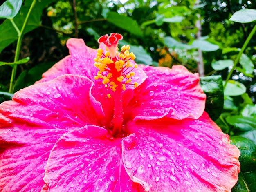
[[107, 21], [113, 25], [120, 27], [138, 37], [143, 37], [143, 33], [135, 20], [116, 12], [108, 12]]

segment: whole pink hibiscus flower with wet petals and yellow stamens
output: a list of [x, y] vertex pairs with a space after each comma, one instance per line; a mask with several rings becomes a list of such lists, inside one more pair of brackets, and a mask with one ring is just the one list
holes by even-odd
[[0, 191], [231, 191], [240, 152], [204, 112], [198, 74], [137, 65], [121, 38], [68, 40], [0, 105]]

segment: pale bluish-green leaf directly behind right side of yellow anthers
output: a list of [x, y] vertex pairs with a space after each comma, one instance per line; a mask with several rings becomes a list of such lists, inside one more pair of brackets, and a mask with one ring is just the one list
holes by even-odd
[[[119, 41], [119, 46], [122, 47], [123, 45], [129, 45], [128, 42], [125, 40]], [[133, 52], [136, 56], [135, 62], [142, 63], [144, 65], [152, 65], [153, 59], [152, 57], [146, 52], [146, 50], [140, 45], [130, 45], [130, 52]]]

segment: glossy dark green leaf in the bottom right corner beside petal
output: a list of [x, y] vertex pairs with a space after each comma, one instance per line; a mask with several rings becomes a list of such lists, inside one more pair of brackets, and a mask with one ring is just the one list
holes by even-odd
[[240, 173], [232, 192], [254, 192], [256, 189], [256, 145], [240, 136], [230, 137], [231, 144], [240, 151]]

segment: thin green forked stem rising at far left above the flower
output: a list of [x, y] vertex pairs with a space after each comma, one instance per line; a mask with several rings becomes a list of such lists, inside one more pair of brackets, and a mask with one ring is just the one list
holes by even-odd
[[[23, 32], [24, 32], [24, 29], [27, 25], [27, 21], [28, 21], [28, 18], [29, 18], [29, 15], [31, 13], [31, 10], [33, 9], [34, 5], [36, 4], [36, 0], [33, 0], [30, 8], [29, 8], [29, 11], [27, 12], [27, 16], [25, 18], [25, 21], [22, 25], [22, 28], [20, 30], [20, 33], [18, 33], [18, 41], [17, 41], [17, 45], [16, 45], [16, 51], [15, 51], [15, 57], [14, 57], [14, 62], [17, 62], [19, 60], [19, 56], [20, 56], [20, 47], [21, 47], [21, 41], [22, 41], [22, 36], [23, 36]], [[12, 22], [12, 21], [11, 21]], [[13, 22], [14, 23], [14, 22]], [[14, 25], [13, 25], [14, 26]], [[17, 27], [17, 26], [16, 26]], [[17, 31], [17, 29], [16, 29]], [[18, 31], [17, 31], [18, 32]], [[15, 64], [13, 66], [13, 69], [12, 69], [12, 72], [11, 72], [11, 80], [10, 80], [10, 88], [9, 88], [9, 92], [10, 93], [13, 93], [14, 91], [14, 82], [15, 82], [15, 77], [16, 77], [16, 71], [17, 71], [17, 64]]]

